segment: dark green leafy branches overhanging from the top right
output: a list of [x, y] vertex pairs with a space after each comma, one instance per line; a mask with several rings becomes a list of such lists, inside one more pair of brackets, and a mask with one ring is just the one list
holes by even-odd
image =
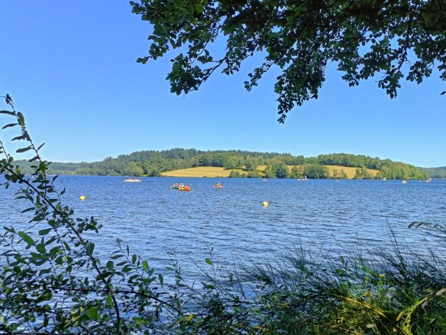
[[[401, 80], [420, 84], [436, 68], [446, 80], [445, 0], [141, 0], [132, 11], [153, 25], [149, 59], [178, 50], [167, 79], [176, 94], [199, 89], [216, 70], [231, 75], [259, 54], [250, 91], [271, 68], [279, 122], [318, 98], [331, 62], [353, 87], [376, 77], [397, 96]], [[216, 45], [224, 39], [225, 45]], [[222, 47], [220, 47], [222, 46]], [[220, 47], [220, 50], [219, 50]], [[439, 92], [440, 93], [440, 92]], [[443, 92], [444, 93], [444, 92]]]

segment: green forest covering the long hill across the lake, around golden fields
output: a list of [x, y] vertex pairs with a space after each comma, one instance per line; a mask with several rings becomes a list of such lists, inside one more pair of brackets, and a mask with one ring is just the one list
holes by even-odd
[[[31, 172], [32, 163], [17, 161], [24, 172]], [[261, 172], [261, 165], [266, 168]], [[257, 151], [200, 151], [197, 149], [170, 149], [163, 151], [136, 151], [116, 158], [105, 158], [93, 163], [52, 163], [52, 174], [97, 174], [159, 176], [161, 172], [194, 168], [197, 166], [220, 167], [234, 170], [231, 177], [239, 177], [240, 170], [246, 177], [270, 178], [343, 178], [339, 169], [329, 172], [326, 165], [357, 168], [355, 178], [426, 179], [427, 173], [413, 165], [351, 154], [325, 154], [315, 157], [293, 156], [274, 152]], [[292, 168], [287, 168], [292, 166]], [[369, 170], [379, 170], [372, 175]]]

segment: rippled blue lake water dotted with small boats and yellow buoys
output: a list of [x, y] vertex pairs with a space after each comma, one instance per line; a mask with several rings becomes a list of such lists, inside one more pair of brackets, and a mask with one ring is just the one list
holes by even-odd
[[[446, 180], [123, 179], [60, 176], [56, 185], [67, 188], [63, 201], [77, 216], [94, 215], [103, 224], [100, 237], [92, 237], [95, 252], [109, 255], [121, 238], [161, 268], [171, 259], [168, 251], [176, 251], [182, 262], [201, 262], [208, 247], [222, 264], [261, 262], [300, 243], [333, 254], [352, 250], [357, 241], [389, 248], [388, 227], [425, 251], [426, 240], [408, 225], [446, 222]], [[170, 189], [176, 181], [190, 184], [192, 191]], [[223, 189], [212, 187], [217, 181]], [[263, 201], [269, 206], [262, 207]], [[10, 190], [0, 190], [1, 225], [23, 226], [29, 216], [20, 210], [26, 207], [13, 201]], [[433, 237], [430, 242], [437, 244]]]

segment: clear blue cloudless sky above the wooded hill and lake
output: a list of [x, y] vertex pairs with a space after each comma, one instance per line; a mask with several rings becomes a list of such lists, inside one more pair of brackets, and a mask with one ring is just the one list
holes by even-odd
[[446, 87], [438, 73], [421, 86], [404, 83], [391, 100], [374, 80], [349, 88], [331, 67], [318, 100], [296, 107], [282, 125], [275, 73], [250, 93], [243, 87], [261, 59], [176, 96], [165, 80], [169, 56], [136, 63], [147, 54], [150, 32], [128, 1], [1, 1], [0, 95], [13, 96], [31, 135], [46, 143], [46, 159], [194, 147], [446, 165]]

